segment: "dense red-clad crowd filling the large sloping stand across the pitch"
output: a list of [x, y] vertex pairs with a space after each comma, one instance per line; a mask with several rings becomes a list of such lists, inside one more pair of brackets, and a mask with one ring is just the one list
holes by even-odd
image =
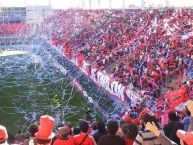
[[49, 17], [44, 31], [66, 57], [81, 56], [88, 69], [142, 97], [147, 92], [164, 98], [186, 86], [187, 98], [193, 92], [192, 14], [191, 9], [66, 10]]

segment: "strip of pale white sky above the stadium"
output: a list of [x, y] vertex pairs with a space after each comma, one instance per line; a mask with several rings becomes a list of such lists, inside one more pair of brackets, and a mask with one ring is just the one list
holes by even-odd
[[[0, 0], [0, 7], [23, 7], [34, 5], [51, 5], [53, 8], [84, 7], [90, 8], [90, 0]], [[141, 0], [91, 0], [91, 8], [123, 8], [135, 3], [140, 6]], [[111, 1], [111, 5], [110, 5]], [[166, 0], [145, 0], [146, 5], [165, 5]], [[177, 7], [193, 6], [193, 0], [168, 0]]]

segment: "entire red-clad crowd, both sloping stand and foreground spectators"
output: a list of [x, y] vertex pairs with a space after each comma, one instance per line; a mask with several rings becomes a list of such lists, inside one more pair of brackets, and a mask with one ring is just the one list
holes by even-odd
[[[54, 118], [41, 116], [39, 127], [30, 125], [30, 138], [15, 137], [24, 145], [193, 145], [193, 10], [66, 10], [44, 21], [43, 33], [61, 46], [68, 59], [83, 60], [137, 91], [144, 102], [123, 112], [119, 121], [81, 121], [53, 133]], [[41, 32], [42, 32], [41, 31]], [[95, 73], [96, 73], [95, 72]], [[177, 81], [176, 81], [177, 80]], [[166, 98], [169, 100], [167, 101]], [[176, 100], [178, 100], [176, 102]], [[150, 108], [150, 107], [156, 107]], [[163, 112], [164, 111], [164, 112]], [[8, 134], [0, 126], [0, 144]]]

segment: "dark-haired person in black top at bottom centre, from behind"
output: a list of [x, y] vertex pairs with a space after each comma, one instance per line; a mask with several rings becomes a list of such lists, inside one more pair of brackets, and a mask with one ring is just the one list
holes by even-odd
[[107, 124], [108, 135], [101, 137], [98, 145], [125, 145], [124, 139], [116, 135], [118, 128], [117, 121], [109, 121]]

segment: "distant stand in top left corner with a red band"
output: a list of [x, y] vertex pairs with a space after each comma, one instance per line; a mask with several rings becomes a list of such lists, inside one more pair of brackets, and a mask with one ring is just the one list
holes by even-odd
[[26, 23], [26, 8], [1, 8], [0, 44], [20, 44], [24, 42], [30, 25]]

